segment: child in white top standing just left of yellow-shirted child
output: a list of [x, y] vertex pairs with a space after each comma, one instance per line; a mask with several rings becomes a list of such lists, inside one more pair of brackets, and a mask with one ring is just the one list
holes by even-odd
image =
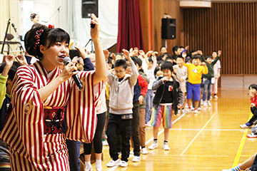
[[[188, 77], [188, 70], [186, 66], [183, 66], [183, 56], [178, 56], [176, 58], [177, 65], [173, 66], [173, 69], [176, 68], [176, 78], [181, 86], [181, 90], [183, 92], [183, 97], [186, 98], [186, 78]], [[184, 99], [183, 108], [185, 107], [186, 100]], [[184, 113], [184, 109], [182, 108], [182, 113]], [[180, 110], [178, 110], [178, 113]]]

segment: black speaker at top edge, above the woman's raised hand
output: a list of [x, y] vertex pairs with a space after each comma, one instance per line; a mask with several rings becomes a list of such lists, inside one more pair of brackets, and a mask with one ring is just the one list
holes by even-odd
[[98, 17], [98, 0], [82, 0], [82, 18], [91, 18], [91, 14]]

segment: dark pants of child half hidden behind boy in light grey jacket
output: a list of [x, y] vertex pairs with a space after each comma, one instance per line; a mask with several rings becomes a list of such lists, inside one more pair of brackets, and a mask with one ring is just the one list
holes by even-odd
[[133, 103], [133, 119], [132, 119], [132, 133], [131, 137], [133, 140], [133, 153], [136, 156], [140, 156], [140, 138], [139, 138], [139, 103]]

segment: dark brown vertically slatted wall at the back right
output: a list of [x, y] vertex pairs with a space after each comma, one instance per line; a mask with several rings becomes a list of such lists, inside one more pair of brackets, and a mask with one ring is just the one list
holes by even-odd
[[257, 74], [257, 2], [183, 9], [184, 44], [203, 55], [221, 49], [223, 74]]

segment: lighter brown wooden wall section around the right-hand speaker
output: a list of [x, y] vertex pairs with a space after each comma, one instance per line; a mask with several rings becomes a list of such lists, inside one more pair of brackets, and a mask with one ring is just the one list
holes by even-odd
[[[183, 9], [179, 7], [179, 1], [140, 0], [139, 3], [143, 44], [146, 51], [159, 51], [161, 45], [165, 44], [164, 41], [161, 41], [161, 19], [164, 18], [165, 14], [176, 19], [176, 39], [167, 40], [168, 51], [171, 52], [173, 46], [183, 46]], [[151, 15], [149, 10], [151, 10]], [[151, 19], [151, 28], [149, 26], [149, 17]]]

